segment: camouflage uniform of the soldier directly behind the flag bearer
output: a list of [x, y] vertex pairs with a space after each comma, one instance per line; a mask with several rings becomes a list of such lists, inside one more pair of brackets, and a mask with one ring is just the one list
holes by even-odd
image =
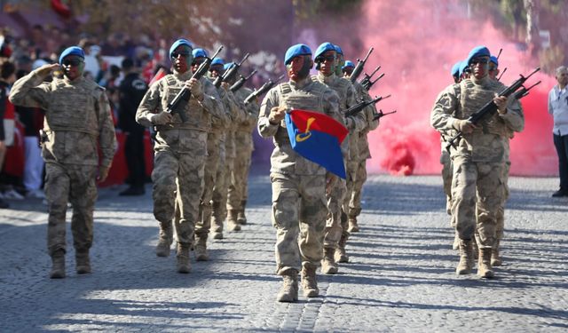
[[[357, 104], [356, 92], [349, 80], [338, 77], [335, 74], [325, 76], [321, 74], [321, 72], [319, 72], [318, 75], [313, 75], [312, 80], [327, 85], [327, 87], [337, 93], [339, 96], [340, 113], [343, 113], [349, 107]], [[342, 147], [347, 178], [345, 180], [338, 178], [337, 181], [335, 181], [335, 185], [332, 186], [330, 193], [327, 194], [328, 216], [326, 235], [324, 238], [325, 248], [337, 248], [343, 230], [347, 229], [346, 225], [343, 224], [342, 226], [342, 212], [348, 209], [349, 198], [347, 194], [351, 193], [352, 190], [356, 171], [355, 161], [358, 156], [358, 131], [364, 126], [360, 113], [356, 117], [350, 117], [350, 119], [350, 133], [343, 141]]]

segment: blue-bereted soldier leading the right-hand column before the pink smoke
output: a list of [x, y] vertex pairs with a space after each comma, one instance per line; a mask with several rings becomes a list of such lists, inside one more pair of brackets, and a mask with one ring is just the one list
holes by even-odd
[[[496, 219], [505, 200], [501, 185], [506, 158], [504, 141], [508, 139], [509, 129], [522, 131], [525, 124], [516, 99], [496, 96], [504, 86], [487, 75], [489, 57], [485, 46], [471, 50], [467, 60], [471, 77], [440, 93], [430, 115], [430, 123], [436, 130], [463, 133], [451, 151], [454, 163], [452, 218], [460, 236], [460, 263], [456, 274], [471, 271], [472, 239], [477, 224], [477, 274], [484, 278], [494, 276], [491, 256], [496, 242]], [[477, 125], [467, 120], [491, 100], [498, 106], [495, 115]]]

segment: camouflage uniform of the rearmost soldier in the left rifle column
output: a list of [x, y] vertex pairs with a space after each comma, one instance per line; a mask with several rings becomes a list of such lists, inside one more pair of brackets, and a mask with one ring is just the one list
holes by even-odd
[[229, 214], [234, 215], [233, 210], [235, 210], [237, 221], [243, 224], [246, 223], [244, 212], [248, 199], [248, 170], [250, 169], [250, 157], [254, 150], [252, 131], [256, 127], [259, 111], [256, 101], [249, 103], [247, 106], [244, 105], [244, 100], [252, 92], [246, 87], [241, 87], [241, 89], [235, 91], [235, 97], [239, 100], [241, 107], [244, 107], [243, 113], [246, 116], [239, 123], [234, 134], [235, 160], [231, 185], [227, 194], [227, 210]]

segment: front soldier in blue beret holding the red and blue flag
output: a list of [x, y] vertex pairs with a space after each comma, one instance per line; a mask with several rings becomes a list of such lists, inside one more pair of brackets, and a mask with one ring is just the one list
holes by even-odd
[[[289, 82], [268, 91], [260, 107], [258, 132], [273, 138], [271, 157], [272, 225], [276, 227], [276, 273], [283, 277], [279, 302], [295, 302], [297, 274], [302, 262], [302, 287], [305, 297], [317, 297], [316, 269], [323, 255], [326, 226], [326, 184], [335, 176], [326, 174], [290, 146], [284, 122], [286, 112], [301, 108], [325, 113], [343, 123], [335, 91], [313, 82], [310, 68], [312, 51], [305, 44], [288, 48], [284, 57]], [[298, 240], [299, 234], [299, 240]], [[299, 241], [299, 244], [298, 244]]]

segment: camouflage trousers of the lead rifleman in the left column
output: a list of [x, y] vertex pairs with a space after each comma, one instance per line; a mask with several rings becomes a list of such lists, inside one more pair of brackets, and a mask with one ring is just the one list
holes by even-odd
[[205, 155], [205, 145], [201, 149], [196, 147], [195, 154], [162, 150], [154, 155], [154, 218], [162, 225], [170, 224], [175, 218], [177, 242], [188, 246], [193, 243], [193, 231], [199, 218]]

